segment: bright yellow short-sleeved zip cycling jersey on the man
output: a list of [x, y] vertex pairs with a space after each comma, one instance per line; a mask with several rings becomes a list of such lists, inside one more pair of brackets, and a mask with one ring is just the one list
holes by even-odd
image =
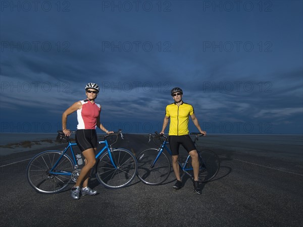
[[170, 117], [169, 133], [170, 136], [183, 136], [189, 133], [189, 116], [193, 115], [193, 107], [183, 102], [181, 105], [175, 103], [166, 106], [165, 116]]

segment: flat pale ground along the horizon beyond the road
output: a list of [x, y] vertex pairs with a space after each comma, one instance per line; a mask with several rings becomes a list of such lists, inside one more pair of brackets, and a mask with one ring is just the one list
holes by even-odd
[[[51, 147], [66, 146], [66, 143], [56, 141], [57, 133], [1, 133], [0, 156], [26, 152], [31, 150], [47, 150]], [[103, 140], [105, 134], [97, 134], [99, 140]], [[135, 144], [146, 137], [143, 142], [148, 144], [148, 133], [124, 133], [124, 142], [129, 145]], [[139, 137], [138, 137], [139, 136]], [[74, 135], [71, 137], [74, 140]], [[258, 149], [260, 151], [283, 151], [283, 147], [292, 146], [296, 152], [302, 150], [303, 137], [301, 135], [289, 134], [208, 134], [201, 137], [199, 144], [221, 149]], [[286, 150], [286, 149], [285, 149]]]

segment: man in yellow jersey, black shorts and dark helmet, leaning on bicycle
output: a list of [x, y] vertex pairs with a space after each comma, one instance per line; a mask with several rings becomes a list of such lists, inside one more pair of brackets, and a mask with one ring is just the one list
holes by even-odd
[[180, 178], [180, 169], [178, 164], [179, 159], [179, 146], [182, 145], [191, 157], [191, 164], [193, 167], [193, 187], [197, 194], [201, 194], [201, 188], [198, 182], [199, 174], [199, 160], [196, 148], [189, 137], [188, 121], [191, 118], [195, 127], [201, 134], [206, 135], [205, 131], [201, 130], [198, 120], [196, 119], [192, 105], [182, 101], [183, 91], [179, 87], [175, 87], [171, 90], [171, 95], [174, 99], [174, 103], [166, 106], [166, 113], [163, 121], [163, 127], [160, 134], [164, 134], [164, 131], [169, 125], [169, 144], [172, 151], [172, 163], [177, 182], [173, 185], [175, 190], [182, 188], [182, 182]]

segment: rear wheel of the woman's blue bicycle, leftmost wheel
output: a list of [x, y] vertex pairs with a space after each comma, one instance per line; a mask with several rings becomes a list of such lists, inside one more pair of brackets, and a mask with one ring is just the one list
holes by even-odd
[[60, 151], [44, 151], [37, 154], [27, 166], [27, 180], [40, 193], [57, 193], [62, 191], [71, 182], [71, 173], [74, 164], [69, 156], [64, 154], [54, 169], [49, 171], [62, 155]]

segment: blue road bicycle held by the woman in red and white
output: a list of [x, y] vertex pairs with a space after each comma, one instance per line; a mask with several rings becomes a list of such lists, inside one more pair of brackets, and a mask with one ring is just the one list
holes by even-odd
[[[75, 133], [75, 131], [72, 132]], [[73, 150], [73, 146], [77, 144], [71, 143], [70, 138], [65, 137], [62, 131], [58, 131], [58, 133], [61, 140], [68, 142], [68, 146], [63, 151], [48, 150], [39, 153], [31, 159], [27, 166], [27, 180], [39, 193], [51, 194], [64, 190], [71, 181], [77, 181], [81, 171]], [[96, 178], [110, 189], [127, 186], [137, 173], [135, 156], [124, 148], [112, 148], [119, 135], [123, 139], [121, 130], [103, 136], [104, 141], [100, 141], [99, 144], [105, 146], [95, 155], [97, 160]], [[113, 142], [108, 142], [109, 137]], [[69, 149], [71, 157], [67, 155]]]

